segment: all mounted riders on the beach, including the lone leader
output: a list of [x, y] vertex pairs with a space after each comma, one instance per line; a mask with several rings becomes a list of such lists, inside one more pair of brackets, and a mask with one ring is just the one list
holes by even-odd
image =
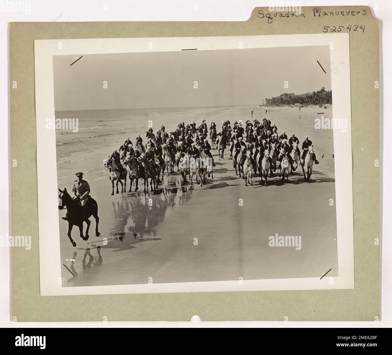
[[[271, 125], [271, 121], [267, 118], [263, 122], [257, 119], [253, 123], [248, 120], [243, 127], [242, 121], [234, 122], [233, 128], [230, 126], [230, 121], [223, 123], [222, 129], [219, 133], [216, 130], [216, 124], [212, 121], [210, 126], [210, 139], [213, 145], [216, 145], [219, 153], [219, 159], [223, 159], [224, 150], [230, 145], [230, 158], [233, 159], [233, 167], [236, 170], [236, 175], [245, 179], [245, 186], [252, 180], [252, 172], [259, 171], [261, 179], [265, 178], [265, 185], [267, 185], [268, 174], [273, 174], [278, 166], [280, 168], [279, 176], [283, 172], [283, 179], [288, 176], [289, 170], [291, 172], [296, 170], [298, 162], [302, 166], [304, 178], [309, 181], [312, 173], [312, 164], [318, 164], [316, 155], [314, 154], [312, 141], [308, 136], [302, 143], [302, 154], [299, 151], [299, 139], [294, 133], [288, 139], [287, 134], [283, 131], [278, 136], [278, 127]], [[132, 183], [135, 181], [135, 191], [138, 190], [138, 179], [144, 181], [144, 192], [148, 192], [148, 179], [150, 179], [151, 190], [156, 189], [156, 184], [160, 183], [160, 173], [166, 168], [167, 175], [169, 169], [173, 172], [174, 166], [177, 165], [177, 171], [181, 172], [184, 181], [189, 174], [190, 183], [192, 184], [192, 176], [200, 176], [201, 185], [203, 179], [201, 172], [205, 176], [208, 172], [214, 178], [212, 169], [215, 167], [214, 159], [211, 154], [211, 145], [207, 139], [208, 129], [205, 120], [199, 127], [196, 123], [185, 125], [184, 122], [177, 126], [174, 132], [167, 133], [165, 127], [162, 125], [160, 130], [154, 134], [152, 128], [146, 132], [146, 144], [143, 145], [143, 138], [139, 135], [135, 139], [135, 145], [128, 138], [121, 145], [121, 147], [113, 152], [104, 160], [104, 165], [109, 169], [110, 179], [112, 181], [112, 195], [114, 194], [114, 181], [116, 181], [116, 192], [118, 191], [118, 183], [122, 186], [122, 191], [126, 191], [127, 176], [129, 176], [131, 191]], [[180, 164], [183, 161], [196, 161], [197, 159], [209, 159], [211, 163], [207, 164], [208, 168], [195, 167], [195, 165]], [[305, 176], [304, 166], [307, 167], [307, 176]], [[237, 172], [238, 167], [238, 172]], [[63, 219], [69, 223], [68, 237], [73, 244], [76, 243], [71, 237], [71, 230], [73, 225], [77, 225], [80, 229], [80, 237], [83, 240], [89, 238], [89, 217], [94, 216], [96, 220], [95, 234], [99, 236], [98, 232], [98, 205], [96, 201], [90, 196], [90, 187], [87, 181], [83, 180], [83, 173], [76, 173], [77, 179], [74, 181], [73, 197], [71, 197], [66, 188], [60, 190], [58, 208], [62, 210], [67, 208], [67, 214]], [[122, 183], [124, 180], [124, 185]], [[154, 189], [152, 188], [154, 183]], [[252, 183], [250, 183], [252, 184]], [[61, 203], [60, 203], [61, 202]], [[83, 236], [83, 221], [87, 223], [86, 234]]]

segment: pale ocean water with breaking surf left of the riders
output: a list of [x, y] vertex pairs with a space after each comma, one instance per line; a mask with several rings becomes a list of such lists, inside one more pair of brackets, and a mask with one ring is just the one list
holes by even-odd
[[109, 173], [103, 160], [127, 138], [134, 143], [140, 134], [143, 143], [147, 142], [145, 132], [150, 121], [155, 134], [162, 124], [167, 132], [172, 132], [179, 122], [195, 121], [199, 125], [205, 119], [209, 127], [212, 120], [219, 125], [227, 119], [235, 121], [245, 112], [248, 117], [250, 110], [247, 106], [230, 106], [56, 111], [56, 118], [79, 120], [78, 132], [56, 130], [58, 185], [72, 185], [78, 171], [84, 173], [87, 181], [107, 179]]

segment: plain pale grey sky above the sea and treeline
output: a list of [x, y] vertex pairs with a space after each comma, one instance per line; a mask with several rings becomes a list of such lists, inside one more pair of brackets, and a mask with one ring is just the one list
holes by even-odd
[[254, 105], [331, 89], [328, 46], [86, 54], [70, 65], [77, 58], [53, 56], [56, 111]]

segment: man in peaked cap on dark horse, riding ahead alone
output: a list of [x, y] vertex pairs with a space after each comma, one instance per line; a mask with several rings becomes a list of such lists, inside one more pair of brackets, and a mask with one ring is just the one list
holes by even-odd
[[[89, 195], [90, 186], [87, 181], [82, 179], [83, 173], [78, 172], [75, 175], [78, 177], [78, 180], [74, 181], [74, 187], [72, 190], [75, 196], [73, 198], [68, 194], [66, 188], [64, 188], [63, 191], [58, 189], [60, 191], [60, 195], [58, 196], [58, 209], [62, 210], [64, 208], [67, 208], [67, 214], [65, 215], [65, 217], [62, 218], [68, 221], [67, 235], [73, 246], [76, 246], [76, 243], [71, 237], [72, 227], [74, 225], [78, 226], [80, 231], [80, 237], [84, 241], [87, 241], [89, 239], [88, 233], [91, 223], [89, 217], [91, 217], [91, 215], [93, 215], [95, 219], [95, 235], [97, 237], [99, 237], [100, 235], [100, 233], [98, 232], [98, 204]], [[85, 236], [83, 236], [83, 221], [87, 224]]]

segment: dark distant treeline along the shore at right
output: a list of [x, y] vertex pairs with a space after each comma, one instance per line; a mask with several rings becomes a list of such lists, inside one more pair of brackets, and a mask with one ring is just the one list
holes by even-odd
[[332, 90], [326, 91], [322, 87], [319, 91], [307, 92], [306, 94], [280, 94], [274, 98], [266, 98], [265, 106], [281, 106], [294, 105], [300, 103], [301, 105], [326, 105], [332, 104]]

